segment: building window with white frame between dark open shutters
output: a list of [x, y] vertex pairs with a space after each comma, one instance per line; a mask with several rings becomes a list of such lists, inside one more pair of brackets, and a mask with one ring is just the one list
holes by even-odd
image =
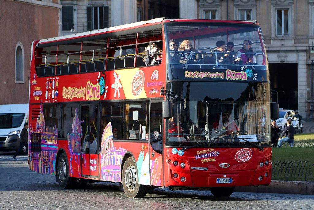
[[87, 29], [89, 31], [108, 27], [108, 7], [87, 7]]

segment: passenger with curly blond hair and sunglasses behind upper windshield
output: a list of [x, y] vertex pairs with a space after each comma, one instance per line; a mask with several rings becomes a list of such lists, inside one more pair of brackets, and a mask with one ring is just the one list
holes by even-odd
[[180, 53], [178, 54], [178, 59], [181, 64], [201, 64], [203, 63], [201, 59], [201, 55], [194, 52], [194, 48], [189, 40], [183, 40], [180, 44], [179, 51], [186, 51], [186, 52], [192, 52], [192, 53]]

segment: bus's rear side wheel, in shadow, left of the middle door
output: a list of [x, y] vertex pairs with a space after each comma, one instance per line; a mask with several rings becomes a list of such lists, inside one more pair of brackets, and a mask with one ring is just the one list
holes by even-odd
[[59, 157], [56, 173], [57, 181], [60, 187], [64, 189], [76, 187], [77, 183], [75, 179], [69, 177], [68, 159], [64, 153], [62, 153]]

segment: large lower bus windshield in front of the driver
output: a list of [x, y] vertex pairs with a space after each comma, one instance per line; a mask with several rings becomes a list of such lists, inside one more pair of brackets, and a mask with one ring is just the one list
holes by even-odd
[[178, 98], [173, 101], [174, 117], [166, 123], [166, 145], [209, 142], [209, 146], [252, 147], [247, 140], [270, 146], [266, 83], [171, 82], [170, 85]]

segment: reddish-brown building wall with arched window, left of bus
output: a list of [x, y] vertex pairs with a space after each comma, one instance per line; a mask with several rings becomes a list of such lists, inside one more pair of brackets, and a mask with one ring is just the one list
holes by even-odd
[[59, 34], [58, 0], [0, 0], [0, 104], [28, 103], [31, 44]]

